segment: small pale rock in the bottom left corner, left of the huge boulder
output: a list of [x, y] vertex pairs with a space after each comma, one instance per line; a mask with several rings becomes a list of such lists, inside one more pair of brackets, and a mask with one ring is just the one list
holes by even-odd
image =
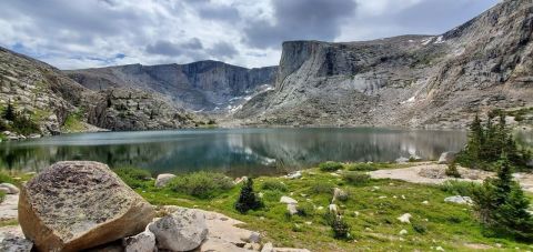
[[0, 228], [0, 251], [30, 252], [33, 243], [24, 238], [20, 226]]

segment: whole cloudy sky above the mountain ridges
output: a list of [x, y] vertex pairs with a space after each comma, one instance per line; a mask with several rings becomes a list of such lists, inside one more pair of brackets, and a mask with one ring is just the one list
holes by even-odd
[[2, 0], [0, 46], [60, 69], [278, 64], [285, 40], [438, 34], [500, 0]]

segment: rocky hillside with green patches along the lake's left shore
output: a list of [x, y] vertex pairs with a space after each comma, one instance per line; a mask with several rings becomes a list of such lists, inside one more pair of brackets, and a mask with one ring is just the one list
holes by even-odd
[[[28, 118], [34, 133], [148, 130], [194, 127], [198, 119], [164, 98], [133, 89], [95, 92], [60, 70], [0, 48], [0, 110], [12, 104]], [[10, 125], [0, 119], [0, 124]], [[200, 122], [201, 123], [201, 122]], [[13, 131], [20, 125], [10, 127]]]

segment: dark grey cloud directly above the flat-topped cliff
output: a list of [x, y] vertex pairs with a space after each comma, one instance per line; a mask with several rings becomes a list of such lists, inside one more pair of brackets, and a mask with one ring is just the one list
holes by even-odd
[[257, 48], [279, 47], [285, 40], [332, 40], [343, 20], [354, 14], [353, 0], [272, 0], [274, 23], [250, 22], [244, 41]]

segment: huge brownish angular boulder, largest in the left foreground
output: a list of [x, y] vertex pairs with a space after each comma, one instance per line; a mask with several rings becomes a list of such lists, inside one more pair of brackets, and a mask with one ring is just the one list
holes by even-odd
[[19, 222], [39, 251], [80, 251], [142, 232], [153, 208], [105, 164], [52, 164], [22, 188]]

